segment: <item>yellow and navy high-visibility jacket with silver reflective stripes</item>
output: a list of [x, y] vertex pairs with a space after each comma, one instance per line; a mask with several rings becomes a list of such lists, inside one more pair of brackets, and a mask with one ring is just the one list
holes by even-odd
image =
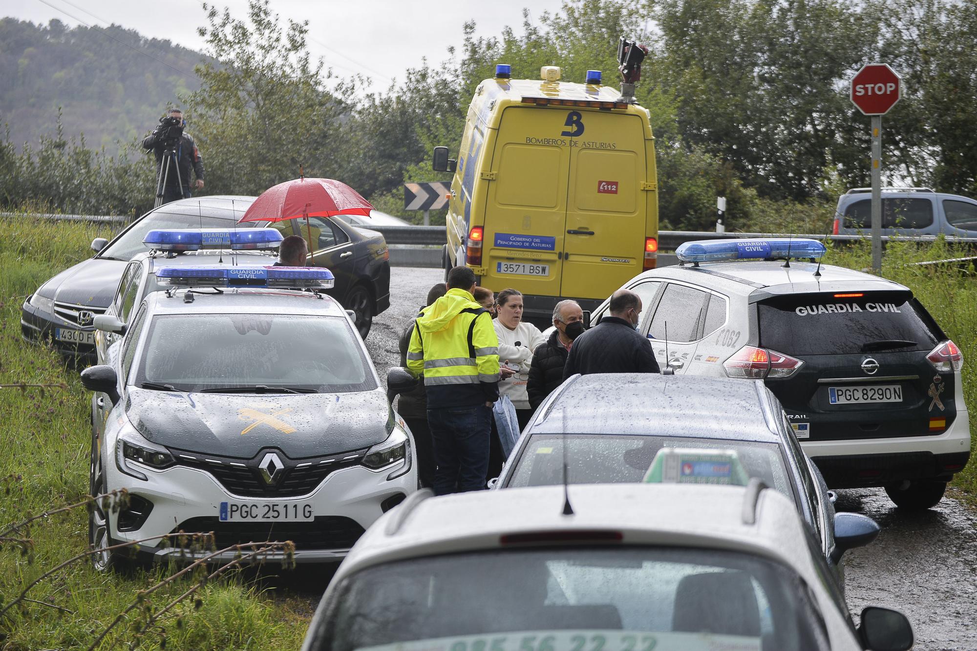
[[407, 369], [423, 374], [430, 409], [495, 402], [498, 338], [488, 311], [464, 289], [448, 289], [418, 315]]

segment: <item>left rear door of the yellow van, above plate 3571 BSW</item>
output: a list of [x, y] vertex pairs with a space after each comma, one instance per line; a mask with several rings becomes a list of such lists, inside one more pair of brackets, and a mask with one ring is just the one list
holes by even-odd
[[[482, 284], [559, 296], [567, 220], [570, 139], [566, 111], [509, 107], [502, 111], [488, 184]], [[487, 282], [488, 280], [488, 282]]]

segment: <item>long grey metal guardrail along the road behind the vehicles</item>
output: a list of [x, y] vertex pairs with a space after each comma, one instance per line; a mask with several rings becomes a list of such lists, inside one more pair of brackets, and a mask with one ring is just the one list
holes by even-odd
[[[0, 212], [0, 217], [17, 217], [17, 213]], [[51, 220], [80, 221], [80, 222], [108, 222], [124, 224], [130, 220], [129, 217], [112, 215], [55, 215], [41, 214], [34, 217]], [[415, 244], [426, 246], [439, 246], [446, 243], [447, 236], [444, 226], [371, 226], [371, 231], [383, 234], [388, 244]], [[695, 239], [757, 239], [757, 238], [810, 238], [838, 242], [853, 243], [871, 239], [869, 235], [864, 236], [834, 236], [817, 234], [798, 234], [798, 233], [712, 233], [710, 231], [659, 231], [658, 248], [669, 251], [682, 242]], [[882, 243], [889, 241], [932, 241], [932, 236], [925, 237], [906, 237], [906, 236], [882, 236]], [[956, 238], [948, 237], [947, 241], [960, 244], [977, 244], [977, 238]]]

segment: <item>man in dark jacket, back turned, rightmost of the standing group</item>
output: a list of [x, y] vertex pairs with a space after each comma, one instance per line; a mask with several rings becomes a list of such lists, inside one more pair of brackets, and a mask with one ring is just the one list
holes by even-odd
[[618, 289], [611, 296], [611, 315], [581, 334], [570, 349], [563, 378], [575, 373], [657, 373], [658, 362], [648, 337], [638, 332], [641, 297]]

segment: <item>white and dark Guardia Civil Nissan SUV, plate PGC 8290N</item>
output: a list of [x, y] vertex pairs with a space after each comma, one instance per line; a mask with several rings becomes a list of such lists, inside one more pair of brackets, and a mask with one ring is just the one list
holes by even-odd
[[622, 286], [641, 296], [662, 367], [762, 379], [828, 487], [882, 486], [929, 508], [970, 456], [959, 348], [908, 287], [817, 262], [825, 252], [813, 239], [685, 242], [679, 265]]

